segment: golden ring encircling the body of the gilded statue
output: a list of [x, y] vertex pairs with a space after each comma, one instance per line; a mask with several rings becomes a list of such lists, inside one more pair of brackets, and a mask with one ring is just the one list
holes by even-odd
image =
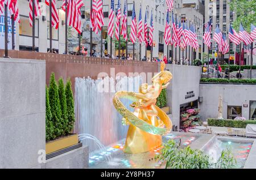
[[148, 132], [152, 135], [162, 136], [162, 135], [166, 135], [168, 132], [171, 131], [172, 122], [170, 118], [166, 113], [163, 112], [162, 109], [158, 108], [158, 106], [155, 105], [155, 108], [158, 112], [158, 117], [164, 123], [165, 127], [156, 127], [138, 118], [136, 115], [134, 115], [134, 113], [130, 112], [130, 110], [128, 110], [125, 107], [125, 105], [122, 104], [119, 98], [126, 98], [128, 100], [133, 100], [133, 101], [138, 101], [138, 98], [134, 96], [134, 92], [127, 92], [127, 91], [119, 91], [115, 93], [115, 96], [113, 98], [113, 104], [115, 108], [124, 118], [126, 118], [129, 121], [129, 123], [131, 123], [131, 125], [134, 125], [135, 127], [138, 127], [141, 130]]

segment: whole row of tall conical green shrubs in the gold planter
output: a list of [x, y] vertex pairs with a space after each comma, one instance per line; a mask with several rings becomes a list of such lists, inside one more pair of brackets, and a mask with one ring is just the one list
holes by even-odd
[[46, 85], [46, 140], [68, 135], [75, 123], [75, 109], [71, 80], [64, 85], [63, 78], [58, 84], [51, 74], [49, 88]]

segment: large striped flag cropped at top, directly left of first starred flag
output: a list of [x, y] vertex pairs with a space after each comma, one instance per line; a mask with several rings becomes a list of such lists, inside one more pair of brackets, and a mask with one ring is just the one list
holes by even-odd
[[93, 7], [92, 12], [90, 13], [90, 25], [92, 30], [98, 35], [98, 32], [101, 31], [102, 26], [104, 26], [102, 0], [93, 0], [92, 5]]

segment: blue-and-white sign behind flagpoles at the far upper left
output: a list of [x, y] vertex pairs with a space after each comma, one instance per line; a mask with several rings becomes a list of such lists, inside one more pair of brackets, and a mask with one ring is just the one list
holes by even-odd
[[[8, 14], [8, 49], [11, 47], [11, 18], [10, 13]], [[14, 23], [14, 35], [16, 34], [16, 23]], [[14, 36], [15, 38], [15, 36]], [[15, 39], [14, 39], [15, 42]], [[0, 16], [0, 49], [5, 49], [5, 16]]]

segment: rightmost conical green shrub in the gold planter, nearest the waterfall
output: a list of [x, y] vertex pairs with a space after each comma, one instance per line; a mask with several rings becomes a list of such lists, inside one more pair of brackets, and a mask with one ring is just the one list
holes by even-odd
[[67, 126], [68, 128], [66, 133], [70, 133], [75, 123], [75, 109], [74, 109], [73, 92], [71, 88], [70, 78], [67, 80], [67, 84], [65, 87], [65, 94], [67, 98], [67, 113], [68, 113], [68, 126]]

